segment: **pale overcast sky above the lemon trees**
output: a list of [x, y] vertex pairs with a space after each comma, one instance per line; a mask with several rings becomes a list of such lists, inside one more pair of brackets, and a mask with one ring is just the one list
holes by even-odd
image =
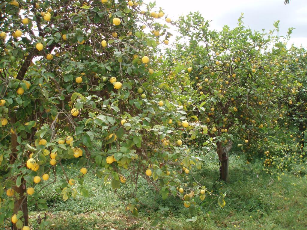
[[[153, 0], [144, 0], [153, 2]], [[307, 0], [156, 0], [166, 15], [177, 20], [190, 11], [199, 11], [211, 21], [211, 29], [220, 30], [223, 25], [236, 26], [237, 19], [244, 13], [244, 23], [253, 30], [274, 29], [274, 21], [280, 20], [280, 34], [286, 35], [294, 27], [290, 43], [307, 47]]]

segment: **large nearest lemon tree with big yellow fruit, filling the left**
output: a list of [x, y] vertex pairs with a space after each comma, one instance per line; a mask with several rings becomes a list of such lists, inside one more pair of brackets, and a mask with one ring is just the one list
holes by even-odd
[[[93, 171], [119, 197], [128, 183], [134, 197], [143, 177], [163, 199], [181, 197], [192, 213], [209, 192], [188, 181], [202, 162], [186, 145], [185, 111], [160, 87], [157, 53], [172, 20], [142, 1], [19, 0], [1, 7], [0, 222], [29, 229], [28, 203], [48, 209], [44, 187], [64, 201], [89, 196], [84, 177]], [[74, 158], [80, 171], [53, 188], [55, 167]], [[121, 200], [138, 215], [137, 199]], [[160, 221], [157, 215], [151, 224]]]

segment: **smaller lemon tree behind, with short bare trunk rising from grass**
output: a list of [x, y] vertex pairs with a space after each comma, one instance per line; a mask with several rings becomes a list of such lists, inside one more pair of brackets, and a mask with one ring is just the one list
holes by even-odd
[[[217, 32], [199, 13], [181, 17], [181, 36], [176, 48], [167, 51], [173, 63], [164, 63], [169, 70], [165, 86], [176, 85], [173, 99], [193, 124], [188, 128], [190, 143], [206, 151], [208, 140], [213, 142], [224, 181], [229, 180], [230, 141], [248, 160], [266, 152], [271, 134], [284, 135], [287, 98], [301, 84], [291, 69], [297, 57], [286, 49], [292, 28], [282, 39], [275, 35], [278, 22], [270, 33], [260, 33], [247, 29], [242, 18], [234, 29], [224, 26]], [[195, 128], [199, 125], [204, 129]]]

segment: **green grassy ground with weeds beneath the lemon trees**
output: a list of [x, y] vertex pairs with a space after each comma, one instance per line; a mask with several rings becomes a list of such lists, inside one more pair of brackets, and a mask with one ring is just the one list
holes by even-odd
[[[197, 213], [195, 223], [186, 222], [191, 216], [178, 198], [169, 196], [163, 201], [140, 180], [138, 198], [142, 203], [153, 205], [155, 208], [169, 207], [169, 217], [165, 225], [167, 228], [307, 229], [306, 178], [296, 178], [289, 173], [278, 181], [275, 176], [263, 172], [260, 163], [246, 164], [233, 154], [230, 157], [231, 182], [225, 184], [217, 180], [219, 172], [215, 155], [206, 157], [205, 161], [206, 166], [193, 176], [215, 194], [226, 192], [226, 206], [220, 208], [215, 198], [207, 197], [203, 210]], [[70, 178], [79, 171], [74, 163], [72, 161], [65, 165]], [[59, 196], [52, 196], [48, 200], [47, 205], [52, 208], [47, 229], [148, 229], [142, 221], [151, 222], [154, 213], [152, 209], [146, 206], [138, 207], [142, 221], [128, 217], [123, 205], [110, 190], [109, 182], [104, 183], [103, 178], [88, 173], [84, 184], [91, 193], [88, 198], [79, 197], [63, 201]], [[45, 197], [54, 193], [54, 189], [55, 187], [45, 189]], [[123, 192], [128, 194], [130, 189], [127, 187]], [[129, 202], [129, 198], [126, 197], [125, 201]], [[44, 216], [45, 212], [35, 206], [29, 207], [29, 210], [30, 222], [33, 229], [37, 229], [37, 218]]]

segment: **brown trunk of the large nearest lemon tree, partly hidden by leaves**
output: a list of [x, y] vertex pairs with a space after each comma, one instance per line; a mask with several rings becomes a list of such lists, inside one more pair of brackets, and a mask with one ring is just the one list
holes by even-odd
[[[15, 117], [11, 118], [11, 122], [12, 124], [15, 123]], [[17, 158], [17, 136], [15, 134], [12, 133], [11, 136], [11, 155], [10, 155], [10, 164], [14, 164], [15, 159]], [[14, 178], [14, 181], [16, 182], [16, 178]], [[24, 225], [28, 226], [28, 201], [27, 201], [27, 196], [26, 194], [24, 195], [24, 193], [26, 193], [26, 186], [25, 186], [25, 180], [24, 178], [21, 178], [21, 184], [19, 187], [14, 186], [13, 188], [19, 195], [19, 198], [15, 199], [15, 203], [14, 203], [14, 211], [13, 213], [17, 213], [18, 211], [22, 211], [23, 212], [23, 217], [24, 217]], [[16, 227], [16, 225], [14, 224], [14, 230], [17, 230], [18, 228]]]

